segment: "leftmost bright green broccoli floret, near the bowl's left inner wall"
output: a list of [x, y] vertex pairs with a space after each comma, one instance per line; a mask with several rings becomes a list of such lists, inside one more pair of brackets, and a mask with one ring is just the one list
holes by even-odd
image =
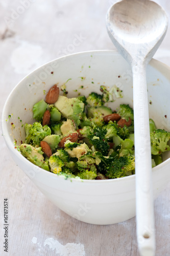
[[[30, 129], [29, 129], [30, 128]], [[26, 143], [32, 145], [40, 145], [41, 140], [45, 136], [51, 135], [51, 129], [48, 125], [42, 126], [41, 123], [35, 122], [31, 126], [25, 124]]]

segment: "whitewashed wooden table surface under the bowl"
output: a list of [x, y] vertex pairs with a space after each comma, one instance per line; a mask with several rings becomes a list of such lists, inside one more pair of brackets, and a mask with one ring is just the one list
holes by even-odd
[[[43, 63], [75, 52], [115, 49], [105, 25], [106, 12], [114, 2], [0, 0], [0, 113], [15, 85]], [[155, 2], [169, 16], [170, 2]], [[169, 39], [168, 29], [154, 57], [170, 66]], [[40, 193], [12, 160], [3, 136], [0, 140], [0, 255], [139, 255], [135, 218], [100, 226], [69, 217]], [[8, 199], [8, 252], [4, 251], [5, 198]], [[156, 255], [169, 256], [170, 184], [155, 200], [155, 225]]]

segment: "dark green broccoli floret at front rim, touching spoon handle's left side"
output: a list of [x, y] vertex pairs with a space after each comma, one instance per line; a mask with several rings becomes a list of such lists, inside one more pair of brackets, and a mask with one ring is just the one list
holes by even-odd
[[134, 174], [135, 159], [133, 156], [115, 158], [109, 166], [106, 167], [106, 177], [115, 179]]

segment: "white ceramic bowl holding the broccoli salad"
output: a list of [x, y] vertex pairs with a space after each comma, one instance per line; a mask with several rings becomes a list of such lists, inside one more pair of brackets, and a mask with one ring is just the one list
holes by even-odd
[[[116, 84], [123, 90], [124, 97], [109, 104], [112, 110], [120, 103], [133, 106], [131, 69], [116, 51], [92, 51], [61, 57], [33, 71], [9, 95], [2, 116], [7, 146], [14, 161], [40, 191], [71, 217], [101, 225], [128, 220], [135, 216], [135, 175], [114, 180], [65, 180], [35, 166], [15, 148], [14, 140], [17, 145], [25, 140], [23, 124], [34, 121], [32, 107], [45, 98], [43, 90], [47, 92], [55, 83], [60, 87], [66, 81], [68, 97], [77, 96], [79, 92], [87, 96], [92, 91], [100, 92], [102, 84], [108, 87]], [[170, 69], [152, 59], [147, 81], [150, 118], [157, 127], [168, 130]], [[80, 89], [82, 85], [84, 88]], [[76, 89], [78, 92], [74, 92]], [[6, 121], [9, 115], [11, 118]], [[155, 198], [170, 179], [169, 167], [169, 154], [165, 154], [164, 162], [153, 168]]]

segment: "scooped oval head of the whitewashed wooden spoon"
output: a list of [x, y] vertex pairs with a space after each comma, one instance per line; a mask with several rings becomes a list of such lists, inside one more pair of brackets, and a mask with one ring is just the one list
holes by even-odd
[[134, 48], [138, 48], [138, 54], [142, 51], [142, 55], [151, 51], [148, 61], [153, 57], [165, 36], [167, 24], [164, 10], [148, 0], [124, 0], [113, 5], [107, 13], [108, 34], [130, 62], [137, 57]]

